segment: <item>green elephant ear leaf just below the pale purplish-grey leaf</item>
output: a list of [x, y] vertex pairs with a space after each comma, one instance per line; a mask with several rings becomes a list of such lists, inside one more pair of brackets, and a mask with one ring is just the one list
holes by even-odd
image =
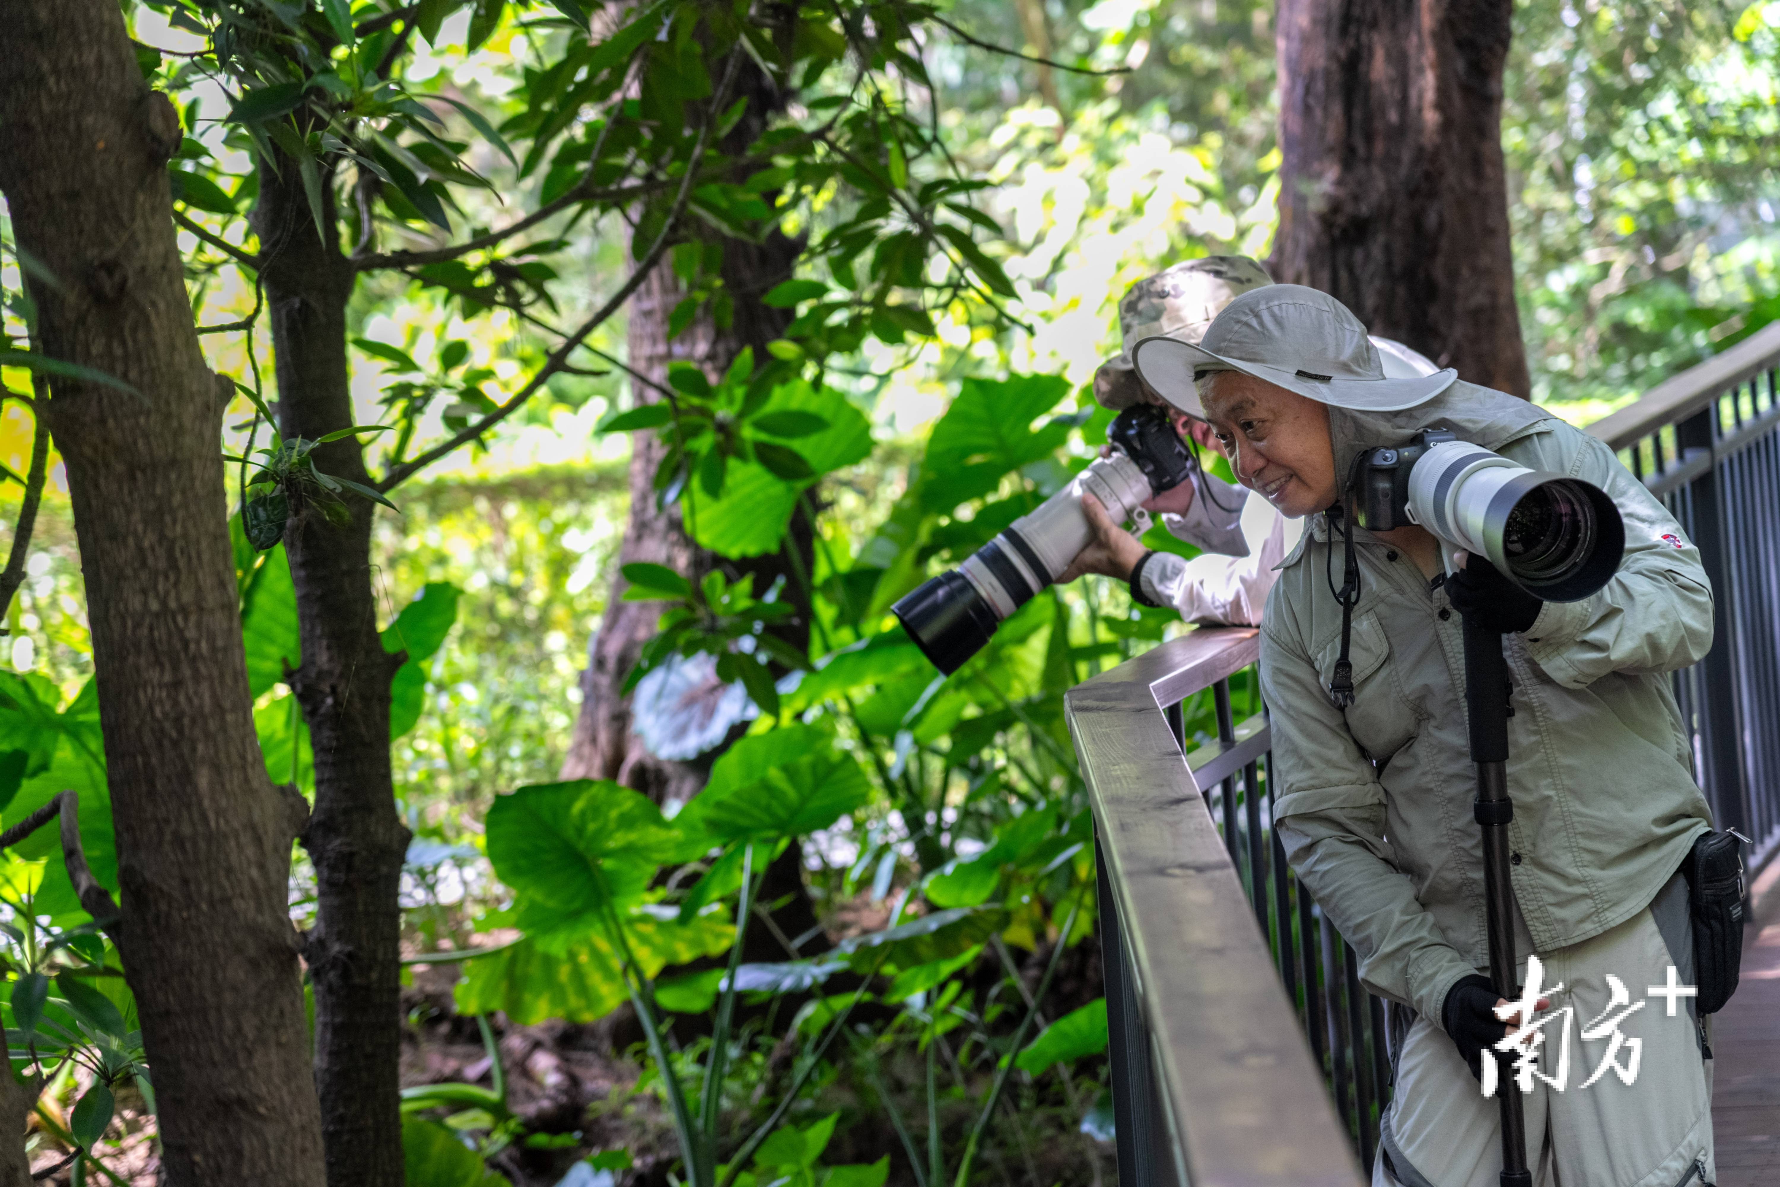
[[831, 826], [870, 792], [865, 769], [824, 730], [785, 726], [732, 746], [676, 824], [714, 842], [778, 840]]

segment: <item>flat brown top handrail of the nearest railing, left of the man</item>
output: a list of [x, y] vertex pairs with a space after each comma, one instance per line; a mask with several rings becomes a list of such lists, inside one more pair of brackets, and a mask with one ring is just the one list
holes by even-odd
[[1098, 836], [1120, 1178], [1143, 1187], [1362, 1182], [1166, 719], [1258, 651], [1253, 628], [1191, 630], [1064, 696]]

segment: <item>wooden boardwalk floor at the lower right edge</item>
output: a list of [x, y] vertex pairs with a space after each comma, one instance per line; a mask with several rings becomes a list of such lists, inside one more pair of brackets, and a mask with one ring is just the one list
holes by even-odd
[[1753, 886], [1737, 993], [1712, 1021], [1718, 1187], [1780, 1183], [1780, 861]]

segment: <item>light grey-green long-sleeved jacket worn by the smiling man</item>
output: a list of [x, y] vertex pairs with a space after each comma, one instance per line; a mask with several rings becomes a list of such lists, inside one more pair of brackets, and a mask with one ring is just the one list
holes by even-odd
[[[1625, 516], [1625, 562], [1607, 587], [1547, 603], [1506, 639], [1509, 876], [1534, 949], [1559, 949], [1643, 909], [1709, 828], [1668, 673], [1711, 648], [1712, 591], [1698, 550], [1606, 445], [1501, 392], [1456, 383], [1406, 413], [1331, 409], [1337, 468], [1433, 425], [1593, 482]], [[1460, 616], [1408, 557], [1363, 530], [1355, 543], [1347, 710], [1328, 698], [1342, 557], [1324, 516], [1267, 600], [1274, 819], [1292, 868], [1360, 952], [1360, 981], [1438, 1025], [1447, 989], [1488, 965]]]

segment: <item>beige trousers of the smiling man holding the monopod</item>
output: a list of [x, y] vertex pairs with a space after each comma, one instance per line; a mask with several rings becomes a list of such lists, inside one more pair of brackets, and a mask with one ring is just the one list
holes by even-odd
[[[1517, 920], [1518, 922], [1518, 920]], [[1529, 950], [1524, 924], [1517, 954]], [[1538, 1070], [1558, 1078], [1563, 1029], [1568, 1021], [1570, 1062], [1565, 1089], [1534, 1077], [1522, 1096], [1527, 1119], [1527, 1166], [1534, 1187], [1703, 1187], [1716, 1182], [1712, 1162], [1711, 1018], [1696, 1021], [1691, 998], [1666, 997], [1650, 988], [1693, 984], [1693, 936], [1687, 922], [1687, 883], [1677, 874], [1648, 908], [1618, 927], [1554, 952], [1541, 952], [1550, 1009]], [[1625, 1002], [1613, 1005], [1607, 975], [1620, 979]], [[1520, 965], [1525, 984], [1525, 959]], [[1604, 1068], [1613, 1048], [1602, 1020], [1598, 1038], [1582, 1030], [1604, 1013], [1623, 1016], [1618, 1030], [1638, 1039], [1622, 1043], [1613, 1062], [1636, 1075], [1623, 1084]], [[1570, 1011], [1568, 1018], [1565, 1011]], [[1401, 1007], [1396, 1013], [1408, 1014]], [[1399, 1032], [1401, 1034], [1401, 1032]], [[1392, 1050], [1394, 1098], [1387, 1109], [1372, 1187], [1497, 1187], [1502, 1169], [1501, 1105], [1486, 1100], [1445, 1030], [1419, 1014]], [[1600, 1077], [1582, 1087], [1597, 1070]], [[1506, 1068], [1504, 1068], [1506, 1073]], [[1518, 1093], [1513, 1075], [1497, 1089]]]

